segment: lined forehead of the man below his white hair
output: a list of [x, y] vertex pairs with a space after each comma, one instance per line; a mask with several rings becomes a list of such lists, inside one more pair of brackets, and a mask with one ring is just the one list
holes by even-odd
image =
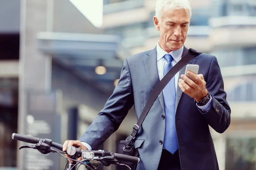
[[172, 22], [178, 23], [178, 22], [189, 22], [189, 20], [190, 20], [189, 9], [163, 8], [163, 16], [162, 16], [163, 22], [172, 21]]

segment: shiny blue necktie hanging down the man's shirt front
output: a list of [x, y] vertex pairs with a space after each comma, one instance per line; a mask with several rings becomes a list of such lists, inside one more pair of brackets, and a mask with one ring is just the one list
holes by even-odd
[[[166, 75], [172, 68], [172, 56], [166, 54], [164, 58], [167, 64], [164, 66], [163, 74]], [[166, 114], [166, 130], [164, 136], [163, 147], [170, 153], [174, 154], [178, 149], [178, 142], [175, 128], [175, 101], [176, 101], [176, 90], [175, 90], [175, 78], [173, 77], [169, 83], [163, 89], [163, 97], [165, 104]]]

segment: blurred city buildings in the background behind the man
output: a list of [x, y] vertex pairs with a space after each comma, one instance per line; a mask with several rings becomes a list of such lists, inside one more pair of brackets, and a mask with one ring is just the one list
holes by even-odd
[[[79, 139], [124, 59], [156, 46], [155, 2], [0, 0], [0, 170], [64, 169], [58, 154], [18, 150], [12, 133]], [[228, 130], [212, 130], [220, 170], [256, 170], [256, 0], [190, 3], [185, 45], [217, 57], [231, 107]], [[132, 108], [100, 149], [115, 152], [136, 122]]]

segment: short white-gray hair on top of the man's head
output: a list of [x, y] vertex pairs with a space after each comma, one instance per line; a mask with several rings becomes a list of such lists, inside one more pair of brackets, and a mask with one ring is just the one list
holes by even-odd
[[156, 3], [156, 17], [161, 23], [163, 16], [163, 8], [170, 9], [189, 9], [190, 17], [192, 15], [189, 0], [157, 0]]

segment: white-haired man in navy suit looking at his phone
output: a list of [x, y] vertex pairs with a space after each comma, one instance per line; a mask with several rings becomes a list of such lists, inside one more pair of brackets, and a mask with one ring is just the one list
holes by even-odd
[[[119, 83], [105, 107], [80, 141], [66, 141], [96, 150], [134, 105], [137, 118], [152, 90], [181, 57], [191, 8], [188, 0], [157, 0], [154, 25], [160, 31], [156, 48], [129, 57]], [[209, 125], [223, 133], [230, 125], [230, 107], [216, 57], [200, 54], [188, 64], [200, 66], [199, 74], [183, 67], [163, 89], [148, 112], [135, 141], [141, 163], [137, 170], [218, 170]]]

